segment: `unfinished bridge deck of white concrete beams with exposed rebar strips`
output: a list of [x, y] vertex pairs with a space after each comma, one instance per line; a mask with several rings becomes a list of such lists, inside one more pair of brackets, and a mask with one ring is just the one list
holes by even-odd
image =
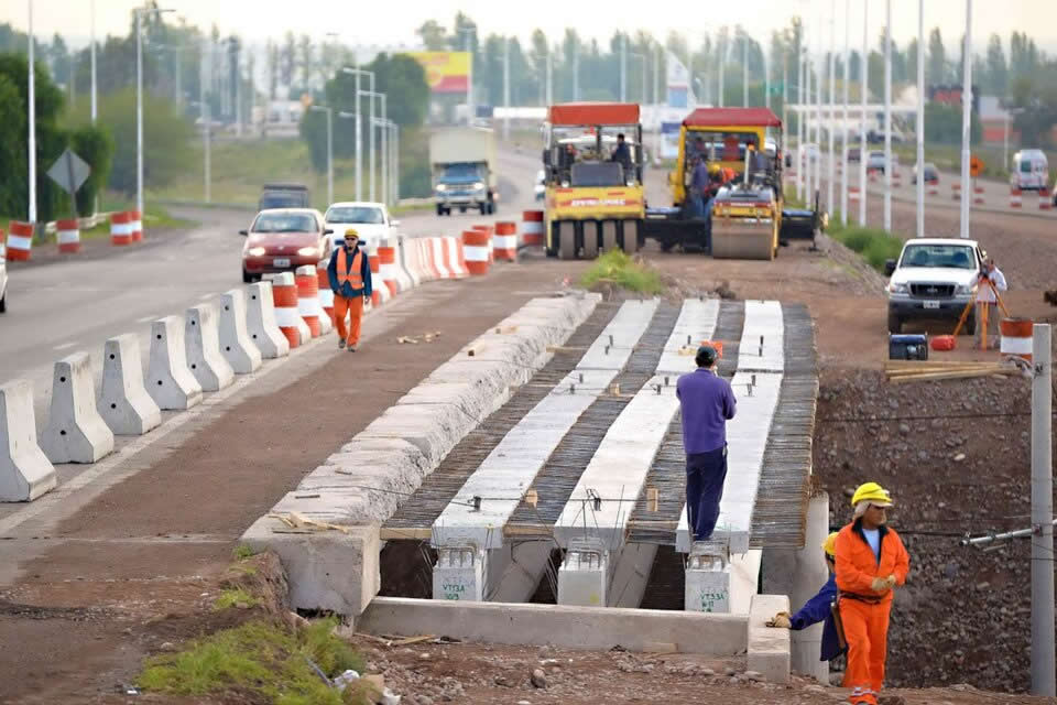
[[[713, 339], [724, 343], [740, 414], [728, 432], [718, 530], [690, 543], [675, 379]], [[825, 581], [817, 546], [804, 549], [827, 529], [825, 513], [820, 528], [807, 527], [814, 357], [803, 306], [534, 300], [352, 438], [244, 539], [280, 553], [297, 607], [339, 611], [368, 632], [748, 649], [751, 670], [784, 682], [788, 632], [763, 621], [788, 598], [759, 595], [758, 585], [769, 551], [792, 560], [789, 584], [771, 581], [785, 594]], [[661, 561], [666, 570], [655, 571]], [[651, 585], [679, 574], [682, 600], [640, 609]], [[557, 605], [534, 603], [542, 595]]]

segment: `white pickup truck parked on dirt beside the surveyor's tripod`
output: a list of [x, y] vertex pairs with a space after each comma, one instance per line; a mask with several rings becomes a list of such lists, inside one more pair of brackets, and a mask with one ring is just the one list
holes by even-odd
[[[976, 295], [984, 258], [976, 240], [907, 240], [900, 259], [885, 262], [889, 333], [902, 333], [906, 321], [957, 321]], [[976, 328], [970, 313], [965, 332], [972, 335]]]

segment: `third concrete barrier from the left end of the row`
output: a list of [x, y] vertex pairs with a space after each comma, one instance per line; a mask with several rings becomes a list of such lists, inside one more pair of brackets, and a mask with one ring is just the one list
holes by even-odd
[[162, 423], [162, 411], [146, 393], [140, 344], [131, 333], [107, 340], [102, 350], [99, 415], [116, 435], [139, 436]]

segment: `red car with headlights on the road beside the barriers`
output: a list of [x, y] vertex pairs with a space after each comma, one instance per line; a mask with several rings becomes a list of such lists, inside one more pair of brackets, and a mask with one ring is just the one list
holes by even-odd
[[260, 281], [263, 274], [292, 272], [330, 257], [323, 214], [313, 208], [261, 210], [253, 218], [242, 246], [242, 281]]

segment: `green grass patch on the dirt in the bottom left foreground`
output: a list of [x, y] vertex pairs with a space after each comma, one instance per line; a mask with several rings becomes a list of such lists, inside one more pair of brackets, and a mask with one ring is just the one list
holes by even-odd
[[331, 633], [336, 623], [323, 619], [297, 634], [259, 621], [218, 631], [179, 653], [151, 659], [139, 684], [145, 691], [192, 697], [250, 694], [276, 705], [360, 703], [357, 691], [339, 693], [312, 666], [331, 679], [347, 669], [363, 672], [359, 654]]

